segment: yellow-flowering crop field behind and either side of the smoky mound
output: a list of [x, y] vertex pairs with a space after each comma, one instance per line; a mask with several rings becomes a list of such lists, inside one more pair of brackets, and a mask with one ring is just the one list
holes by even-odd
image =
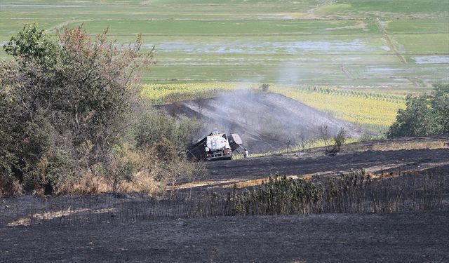
[[[260, 92], [258, 83], [154, 83], [146, 84], [142, 94], [153, 104], [210, 98], [236, 90]], [[384, 132], [393, 123], [398, 109], [405, 108], [403, 95], [375, 91], [331, 88], [328, 86], [271, 85], [270, 90], [298, 100], [338, 119]]]

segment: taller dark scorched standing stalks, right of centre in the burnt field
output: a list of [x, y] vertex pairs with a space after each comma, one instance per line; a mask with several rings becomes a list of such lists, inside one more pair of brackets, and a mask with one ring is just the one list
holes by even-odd
[[445, 177], [432, 173], [370, 175], [364, 170], [312, 180], [270, 177], [253, 189], [210, 194], [194, 215], [393, 213], [443, 208]]

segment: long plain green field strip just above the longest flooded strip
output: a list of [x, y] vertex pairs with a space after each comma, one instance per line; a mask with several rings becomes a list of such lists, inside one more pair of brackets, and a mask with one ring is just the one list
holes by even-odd
[[373, 21], [315, 20], [95, 20], [72, 22], [89, 32], [100, 33], [109, 27], [111, 34], [154, 34], [195, 36], [252, 36], [283, 34], [378, 34]]

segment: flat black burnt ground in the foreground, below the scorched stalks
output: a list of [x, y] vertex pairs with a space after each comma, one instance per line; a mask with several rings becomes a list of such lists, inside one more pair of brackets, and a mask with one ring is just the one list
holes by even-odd
[[1, 228], [2, 262], [447, 262], [447, 211]]

